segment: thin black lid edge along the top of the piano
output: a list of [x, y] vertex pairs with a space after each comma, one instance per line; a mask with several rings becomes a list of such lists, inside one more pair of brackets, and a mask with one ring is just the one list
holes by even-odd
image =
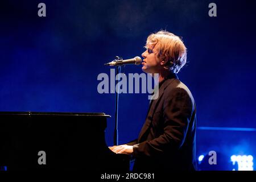
[[107, 117], [105, 113], [69, 113], [69, 112], [34, 112], [34, 111], [0, 111], [0, 115], [29, 115], [29, 116], [84, 116], [84, 117]]

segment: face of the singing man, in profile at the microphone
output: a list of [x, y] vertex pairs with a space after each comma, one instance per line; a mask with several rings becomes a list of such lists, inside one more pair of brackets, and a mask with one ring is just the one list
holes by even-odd
[[147, 45], [146, 51], [142, 53], [142, 71], [145, 73], [159, 73], [160, 61], [158, 59], [158, 44]]

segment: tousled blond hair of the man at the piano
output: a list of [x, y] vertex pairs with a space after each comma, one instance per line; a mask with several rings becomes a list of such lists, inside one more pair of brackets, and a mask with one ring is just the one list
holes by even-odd
[[147, 38], [146, 45], [158, 46], [158, 58], [160, 61], [167, 61], [164, 68], [171, 72], [178, 73], [187, 61], [187, 48], [183, 41], [168, 31], [158, 31]]

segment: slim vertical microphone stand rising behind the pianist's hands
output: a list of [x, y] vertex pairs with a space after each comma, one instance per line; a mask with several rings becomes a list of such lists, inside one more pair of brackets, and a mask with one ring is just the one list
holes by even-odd
[[[115, 61], [122, 60], [122, 57], [116, 56]], [[115, 66], [115, 77], [121, 73], [121, 65]], [[120, 81], [120, 75], [118, 75], [118, 80], [115, 80], [115, 86], [117, 86]], [[117, 86], [117, 90], [115, 90], [115, 128], [114, 128], [114, 146], [118, 145], [118, 101], [119, 101], [119, 86]]]

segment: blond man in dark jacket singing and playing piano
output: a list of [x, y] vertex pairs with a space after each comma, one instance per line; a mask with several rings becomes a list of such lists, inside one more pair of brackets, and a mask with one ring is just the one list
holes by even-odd
[[151, 100], [138, 139], [110, 150], [133, 155], [135, 171], [196, 170], [195, 101], [176, 76], [186, 63], [187, 49], [167, 31], [148, 36], [145, 47], [142, 70], [159, 73], [158, 98]]

